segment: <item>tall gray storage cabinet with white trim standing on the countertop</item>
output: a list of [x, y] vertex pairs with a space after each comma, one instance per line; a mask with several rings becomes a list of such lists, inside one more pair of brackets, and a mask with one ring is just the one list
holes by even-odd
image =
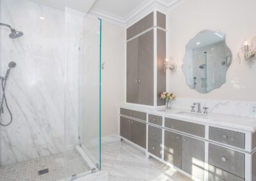
[[[156, 24], [161, 26], [161, 29]], [[127, 103], [150, 106], [164, 105], [164, 101], [159, 99], [159, 95], [166, 89], [165, 24], [166, 16], [159, 11], [153, 11], [127, 28]], [[155, 99], [157, 101], [154, 101]]]

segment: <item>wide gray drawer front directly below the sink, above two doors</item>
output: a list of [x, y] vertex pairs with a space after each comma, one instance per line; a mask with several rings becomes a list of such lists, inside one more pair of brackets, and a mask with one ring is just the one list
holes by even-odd
[[193, 134], [200, 137], [205, 137], [205, 126], [202, 124], [195, 124], [193, 122], [186, 122], [182, 120], [164, 118], [164, 127], [182, 131], [184, 133]]

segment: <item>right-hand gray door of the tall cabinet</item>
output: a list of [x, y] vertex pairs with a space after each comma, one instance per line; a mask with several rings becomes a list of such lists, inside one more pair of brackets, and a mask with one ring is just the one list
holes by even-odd
[[154, 30], [139, 36], [139, 104], [154, 105]]

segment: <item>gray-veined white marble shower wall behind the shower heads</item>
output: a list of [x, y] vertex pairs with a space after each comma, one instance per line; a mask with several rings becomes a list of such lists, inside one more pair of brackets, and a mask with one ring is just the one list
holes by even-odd
[[[8, 62], [17, 63], [6, 86], [13, 122], [8, 127], [1, 127], [1, 164], [63, 152], [65, 113], [69, 131], [67, 143], [76, 144], [78, 140], [78, 68], [74, 50], [77, 49], [75, 40], [79, 31], [74, 25], [70, 26], [74, 31], [67, 34], [67, 41], [72, 43], [67, 43], [70, 45], [67, 47], [70, 52], [67, 58], [69, 88], [65, 99], [65, 11], [27, 0], [1, 0], [0, 12], [1, 22], [24, 33], [24, 36], [11, 40], [8, 37], [10, 30], [1, 27], [1, 75], [5, 74]], [[67, 18], [67, 22], [76, 20]], [[2, 119], [3, 122], [10, 119], [6, 108]]]

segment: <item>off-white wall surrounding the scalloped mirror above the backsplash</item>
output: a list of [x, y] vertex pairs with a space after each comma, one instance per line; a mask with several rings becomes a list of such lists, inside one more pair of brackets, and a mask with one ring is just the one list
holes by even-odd
[[[167, 73], [167, 91], [178, 98], [256, 101], [256, 62], [250, 68], [239, 64], [236, 54], [244, 40], [256, 36], [255, 0], [191, 0], [168, 14], [168, 57], [177, 62], [177, 71]], [[220, 89], [200, 94], [186, 85], [181, 64], [188, 41], [199, 31], [218, 30], [226, 34], [233, 59], [227, 71], [227, 82]]]

